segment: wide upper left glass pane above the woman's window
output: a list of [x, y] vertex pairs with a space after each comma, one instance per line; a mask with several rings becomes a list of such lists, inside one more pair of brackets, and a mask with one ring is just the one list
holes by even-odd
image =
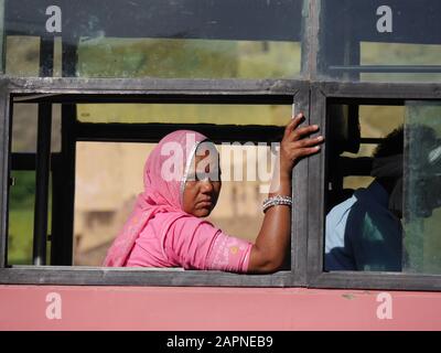
[[[6, 3], [8, 36], [63, 38], [65, 64], [73, 67], [65, 75], [300, 76], [303, 0], [60, 0], [55, 9], [43, 0]], [[29, 57], [22, 51], [9, 46], [8, 57], [18, 62], [11, 73], [39, 75], [25, 65]]]

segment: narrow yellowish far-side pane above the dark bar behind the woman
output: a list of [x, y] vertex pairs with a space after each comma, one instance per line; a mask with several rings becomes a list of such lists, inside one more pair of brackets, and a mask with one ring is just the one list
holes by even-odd
[[284, 126], [290, 105], [87, 104], [77, 105], [82, 122], [163, 122]]

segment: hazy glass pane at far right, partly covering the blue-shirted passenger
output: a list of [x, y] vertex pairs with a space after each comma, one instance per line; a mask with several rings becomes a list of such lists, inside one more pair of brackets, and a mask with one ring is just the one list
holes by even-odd
[[441, 105], [408, 101], [404, 270], [441, 274]]

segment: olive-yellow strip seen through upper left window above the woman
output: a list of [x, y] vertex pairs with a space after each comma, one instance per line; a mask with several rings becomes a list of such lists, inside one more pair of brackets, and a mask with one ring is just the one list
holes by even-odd
[[77, 76], [293, 78], [300, 52], [290, 42], [101, 38], [79, 42]]

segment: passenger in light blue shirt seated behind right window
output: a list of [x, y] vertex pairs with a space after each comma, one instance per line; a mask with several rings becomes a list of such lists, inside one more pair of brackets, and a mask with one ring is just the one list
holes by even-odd
[[326, 216], [325, 269], [401, 271], [404, 129], [374, 152], [367, 189], [358, 189]]

